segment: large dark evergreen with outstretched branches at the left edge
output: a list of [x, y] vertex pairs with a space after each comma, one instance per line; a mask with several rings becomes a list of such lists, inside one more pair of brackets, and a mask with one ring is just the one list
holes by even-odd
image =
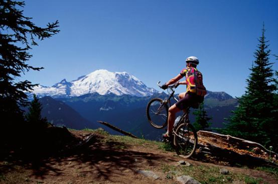
[[[26, 91], [35, 84], [18, 81], [17, 78], [29, 70], [40, 70], [26, 62], [32, 57], [28, 51], [43, 40], [59, 32], [58, 21], [48, 23], [45, 28], [31, 22], [23, 15], [24, 2], [0, 0], [0, 116], [10, 122], [21, 117], [20, 107], [28, 105]], [[17, 120], [16, 120], [17, 121]]]

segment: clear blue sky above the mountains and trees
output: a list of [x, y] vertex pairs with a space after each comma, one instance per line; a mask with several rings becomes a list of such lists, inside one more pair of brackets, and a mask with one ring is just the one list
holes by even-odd
[[61, 32], [31, 51], [29, 64], [45, 69], [22, 78], [50, 86], [107, 69], [126, 71], [158, 89], [157, 81], [168, 81], [186, 57], [197, 56], [208, 90], [239, 97], [263, 22], [271, 54], [278, 55], [277, 7], [276, 0], [29, 0], [24, 14], [39, 26], [58, 20]]

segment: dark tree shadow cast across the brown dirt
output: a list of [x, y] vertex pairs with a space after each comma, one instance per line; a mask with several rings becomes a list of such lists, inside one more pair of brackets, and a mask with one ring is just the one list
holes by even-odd
[[128, 150], [129, 146], [124, 143], [112, 140], [104, 140], [104, 137], [92, 134], [88, 143], [71, 150], [56, 153], [51, 157], [40, 157], [32, 154], [24, 155], [11, 154], [0, 165], [0, 173], [5, 174], [13, 171], [18, 165], [25, 169], [31, 169], [32, 175], [44, 178], [45, 175], [59, 176], [64, 171], [82, 171], [81, 175], [93, 174], [94, 178], [109, 180], [111, 174], [119, 174], [119, 171], [131, 169], [135, 170], [136, 160], [147, 160], [152, 165], [154, 161], [169, 160], [163, 155], [144, 153], [140, 151]]

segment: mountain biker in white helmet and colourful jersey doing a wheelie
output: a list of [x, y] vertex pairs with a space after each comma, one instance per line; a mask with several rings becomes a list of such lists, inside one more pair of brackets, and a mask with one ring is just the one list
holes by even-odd
[[[196, 69], [198, 64], [199, 59], [197, 57], [190, 56], [186, 58], [186, 68], [182, 69], [180, 74], [161, 86], [162, 89], [167, 89], [171, 84], [174, 84], [175, 87], [180, 84], [187, 85], [186, 92], [179, 94], [179, 101], [169, 108], [168, 130], [163, 134], [164, 138], [169, 138], [172, 135], [176, 113], [204, 101], [206, 88], [203, 85], [202, 73]], [[184, 76], [186, 80], [179, 82]]]

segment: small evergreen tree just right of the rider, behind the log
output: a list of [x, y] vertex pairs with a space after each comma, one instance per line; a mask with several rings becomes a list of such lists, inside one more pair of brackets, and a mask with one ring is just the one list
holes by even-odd
[[204, 103], [202, 103], [200, 108], [194, 111], [193, 114], [196, 116], [193, 125], [197, 131], [210, 127], [211, 123], [209, 123], [209, 121], [212, 120], [212, 118], [208, 117], [204, 108]]

